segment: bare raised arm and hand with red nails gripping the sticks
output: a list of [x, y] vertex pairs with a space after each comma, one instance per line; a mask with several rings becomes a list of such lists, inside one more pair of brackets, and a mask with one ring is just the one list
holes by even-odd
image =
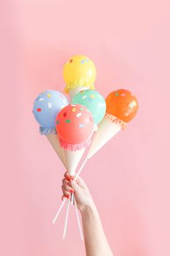
[[68, 175], [68, 172], [64, 174], [64, 177], [62, 200], [64, 197], [69, 198], [71, 193], [76, 199], [84, 229], [86, 256], [113, 256], [102, 228], [97, 207], [84, 180], [79, 177], [75, 181], [73, 176]]

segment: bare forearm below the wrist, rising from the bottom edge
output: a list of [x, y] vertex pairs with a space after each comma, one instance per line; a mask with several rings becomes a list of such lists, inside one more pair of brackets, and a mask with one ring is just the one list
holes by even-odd
[[112, 251], [102, 228], [99, 213], [94, 204], [81, 211], [86, 256], [112, 256]]

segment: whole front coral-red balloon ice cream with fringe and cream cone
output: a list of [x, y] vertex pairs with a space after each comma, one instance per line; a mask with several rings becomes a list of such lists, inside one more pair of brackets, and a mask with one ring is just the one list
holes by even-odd
[[80, 104], [66, 106], [56, 118], [56, 130], [70, 175], [75, 175], [86, 146], [91, 142], [93, 128], [94, 121], [91, 112]]

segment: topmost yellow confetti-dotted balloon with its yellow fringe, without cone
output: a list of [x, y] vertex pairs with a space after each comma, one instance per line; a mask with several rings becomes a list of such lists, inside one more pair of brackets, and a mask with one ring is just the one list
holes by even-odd
[[96, 76], [97, 69], [91, 59], [84, 55], [72, 56], [63, 67], [65, 92], [81, 86], [94, 90]]

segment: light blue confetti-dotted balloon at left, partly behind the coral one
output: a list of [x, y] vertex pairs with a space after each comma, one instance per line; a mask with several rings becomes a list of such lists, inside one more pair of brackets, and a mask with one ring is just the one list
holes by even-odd
[[47, 132], [50, 128], [55, 128], [55, 119], [62, 108], [69, 104], [68, 99], [57, 90], [46, 90], [40, 93], [35, 99], [33, 106], [33, 114], [38, 124], [40, 124], [40, 132]]

